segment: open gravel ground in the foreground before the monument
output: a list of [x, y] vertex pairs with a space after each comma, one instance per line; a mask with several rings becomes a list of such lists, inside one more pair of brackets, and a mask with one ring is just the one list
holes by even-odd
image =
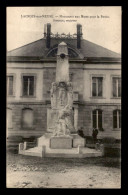
[[120, 188], [119, 158], [39, 158], [7, 152], [7, 188]]

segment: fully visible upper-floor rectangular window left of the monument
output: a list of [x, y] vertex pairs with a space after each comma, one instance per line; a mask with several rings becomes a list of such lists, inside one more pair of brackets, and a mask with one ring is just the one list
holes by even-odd
[[23, 96], [34, 95], [34, 76], [23, 76]]

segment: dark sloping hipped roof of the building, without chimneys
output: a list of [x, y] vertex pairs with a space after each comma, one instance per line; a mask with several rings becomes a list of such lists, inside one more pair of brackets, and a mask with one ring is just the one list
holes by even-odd
[[[65, 42], [69, 48], [73, 49], [78, 55], [74, 56], [77, 59], [84, 58], [121, 58], [121, 55], [106, 49], [100, 45], [81, 39], [81, 48], [77, 49], [76, 39], [63, 39], [63, 38], [51, 38], [50, 49], [46, 48], [46, 39], [42, 38], [40, 40], [34, 41], [22, 47], [16, 48], [14, 50], [8, 51], [8, 57], [39, 57], [47, 58], [48, 53], [57, 48], [57, 45], [61, 42]], [[48, 58], [52, 58], [49, 56]], [[70, 57], [70, 56], [69, 56]]]

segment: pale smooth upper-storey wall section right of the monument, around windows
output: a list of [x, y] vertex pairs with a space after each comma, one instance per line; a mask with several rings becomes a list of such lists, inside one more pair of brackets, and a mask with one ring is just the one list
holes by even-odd
[[[112, 78], [121, 77], [120, 64], [85, 64], [83, 68], [83, 100], [91, 103], [120, 103], [112, 95]], [[92, 97], [92, 77], [103, 77], [102, 97]]]

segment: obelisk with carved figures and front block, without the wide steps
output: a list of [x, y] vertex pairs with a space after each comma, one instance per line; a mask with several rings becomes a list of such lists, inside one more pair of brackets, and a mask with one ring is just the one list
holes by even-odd
[[74, 126], [72, 122], [73, 86], [69, 81], [69, 62], [67, 44], [58, 45], [56, 81], [51, 88], [51, 114], [53, 125], [50, 147], [56, 149], [72, 148]]

